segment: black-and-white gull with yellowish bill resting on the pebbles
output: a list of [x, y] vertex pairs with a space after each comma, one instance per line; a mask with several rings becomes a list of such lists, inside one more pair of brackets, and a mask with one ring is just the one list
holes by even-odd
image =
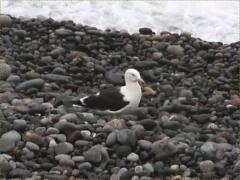
[[125, 86], [103, 89], [95, 95], [77, 100], [73, 106], [80, 105], [109, 113], [121, 113], [137, 108], [142, 97], [140, 85], [144, 86], [145, 82], [136, 69], [128, 69], [124, 79]]

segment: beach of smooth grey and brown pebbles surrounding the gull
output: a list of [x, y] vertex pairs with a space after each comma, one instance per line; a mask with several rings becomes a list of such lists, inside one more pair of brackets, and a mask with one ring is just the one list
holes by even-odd
[[[240, 42], [8, 15], [0, 26], [1, 179], [240, 178]], [[127, 68], [156, 91], [134, 114], [69, 105], [123, 85]]]

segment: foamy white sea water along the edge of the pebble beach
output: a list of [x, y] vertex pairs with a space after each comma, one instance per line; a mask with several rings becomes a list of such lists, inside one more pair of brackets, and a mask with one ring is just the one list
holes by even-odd
[[2, 0], [1, 13], [51, 17], [100, 29], [190, 32], [207, 41], [239, 41], [238, 1]]

